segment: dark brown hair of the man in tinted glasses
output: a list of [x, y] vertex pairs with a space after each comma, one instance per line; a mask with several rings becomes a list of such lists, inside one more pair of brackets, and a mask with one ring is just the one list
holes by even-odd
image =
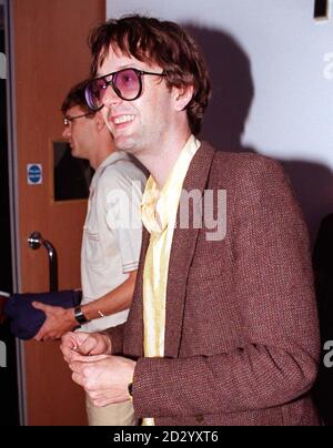
[[91, 74], [108, 57], [110, 45], [139, 61], [155, 63], [165, 73], [168, 88], [193, 85], [186, 106], [189, 124], [199, 134], [211, 92], [208, 68], [198, 43], [179, 24], [142, 16], [111, 19], [89, 37], [92, 52]]

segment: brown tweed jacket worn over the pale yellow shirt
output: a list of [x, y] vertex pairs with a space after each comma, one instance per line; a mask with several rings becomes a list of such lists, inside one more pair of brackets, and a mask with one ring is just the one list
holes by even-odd
[[307, 232], [282, 167], [204, 143], [183, 187], [226, 191], [226, 236], [175, 230], [165, 357], [144, 358], [144, 232], [128, 324], [109, 333], [114, 354], [138, 360], [137, 417], [180, 426], [319, 425], [309, 395], [319, 326]]

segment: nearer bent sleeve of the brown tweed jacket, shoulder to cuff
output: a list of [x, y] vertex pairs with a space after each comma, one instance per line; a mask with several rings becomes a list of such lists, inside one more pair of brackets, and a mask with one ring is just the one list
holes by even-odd
[[139, 359], [138, 417], [265, 409], [297, 399], [314, 383], [319, 325], [301, 210], [280, 164], [255, 157], [235, 175], [228, 232], [243, 344], [212, 356]]

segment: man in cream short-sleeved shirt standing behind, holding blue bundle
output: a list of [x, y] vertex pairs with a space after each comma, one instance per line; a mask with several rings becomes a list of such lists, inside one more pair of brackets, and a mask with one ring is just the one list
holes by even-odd
[[[47, 316], [37, 340], [60, 338], [80, 325], [89, 333], [120, 325], [127, 320], [133, 296], [142, 236], [139, 205], [145, 175], [133, 157], [115, 150], [101, 113], [88, 109], [85, 85], [75, 85], [61, 108], [63, 138], [72, 155], [89, 160], [95, 170], [83, 227], [82, 303], [69, 309], [34, 303]], [[97, 408], [87, 397], [87, 410], [92, 426], [133, 424], [129, 401]]]

